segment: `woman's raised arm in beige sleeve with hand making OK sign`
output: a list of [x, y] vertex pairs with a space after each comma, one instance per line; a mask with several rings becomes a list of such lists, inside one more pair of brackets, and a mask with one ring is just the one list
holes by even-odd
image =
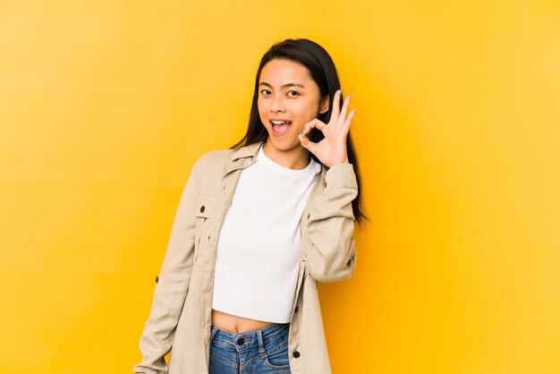
[[[348, 112], [350, 97], [344, 99], [340, 108], [341, 96], [342, 90], [336, 90], [328, 123], [315, 118], [305, 124], [303, 133], [299, 135], [301, 145], [329, 167], [325, 175], [325, 191], [311, 201], [308, 220], [311, 249], [307, 253], [306, 267], [311, 276], [322, 282], [352, 276], [356, 258], [352, 238], [355, 219], [352, 200], [358, 195], [358, 183], [346, 149], [346, 139], [356, 110]], [[324, 135], [317, 143], [305, 137], [313, 127]]]

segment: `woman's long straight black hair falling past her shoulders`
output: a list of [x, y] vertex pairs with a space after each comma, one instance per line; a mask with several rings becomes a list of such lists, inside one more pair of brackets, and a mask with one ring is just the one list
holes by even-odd
[[[330, 120], [333, 108], [333, 98], [335, 98], [336, 90], [340, 89], [338, 72], [336, 72], [336, 67], [333, 59], [330, 55], [328, 55], [325, 48], [319, 46], [317, 43], [311, 41], [310, 39], [285, 39], [284, 41], [277, 42], [275, 45], [270, 47], [260, 60], [259, 70], [257, 71], [257, 78], [255, 79], [255, 91], [253, 93], [253, 100], [250, 106], [249, 126], [247, 127], [247, 132], [245, 133], [245, 136], [243, 136], [242, 140], [239, 140], [237, 143], [235, 143], [231, 147], [231, 149], [240, 149], [259, 141], [266, 141], [268, 138], [267, 129], [260, 121], [259, 116], [259, 79], [262, 68], [268, 62], [275, 58], [284, 58], [293, 61], [305, 66], [309, 70], [311, 78], [318, 85], [321, 98], [325, 98], [325, 96], [327, 95], [329, 97], [328, 110], [327, 112], [318, 115], [318, 119], [323, 123], [328, 123]], [[339, 107], [342, 108], [343, 103], [344, 98], [341, 95]], [[313, 128], [308, 136], [309, 139], [313, 142], [318, 142], [325, 138], [323, 132], [316, 128]], [[346, 151], [348, 152], [348, 162], [352, 164], [354, 173], [356, 174], [356, 180], [358, 182], [358, 195], [352, 201], [352, 211], [354, 217], [358, 221], [358, 224], [361, 225], [363, 221], [369, 220], [369, 218], [367, 217], [365, 209], [363, 207], [360, 167], [358, 165], [358, 157], [356, 157], [356, 149], [352, 142], [352, 136], [350, 135], [350, 132], [348, 132], [348, 135], [346, 137]], [[311, 152], [310, 156], [313, 157], [313, 159], [319, 164], [322, 164], [318, 160], [318, 158]]]

